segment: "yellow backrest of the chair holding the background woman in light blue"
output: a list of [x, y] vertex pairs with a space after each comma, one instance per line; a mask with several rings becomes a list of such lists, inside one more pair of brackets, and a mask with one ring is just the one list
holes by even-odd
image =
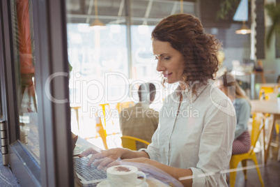
[[260, 132], [263, 130], [264, 126], [265, 117], [263, 114], [254, 113], [251, 129], [251, 151], [254, 151], [254, 147], [256, 147], [256, 142], [258, 141], [258, 137], [260, 136]]

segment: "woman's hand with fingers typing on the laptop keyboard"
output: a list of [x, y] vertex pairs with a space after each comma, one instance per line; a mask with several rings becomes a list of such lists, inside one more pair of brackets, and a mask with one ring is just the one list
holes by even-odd
[[119, 165], [117, 160], [122, 156], [123, 150], [121, 148], [107, 149], [101, 151], [95, 151], [93, 148], [88, 148], [79, 154], [79, 157], [84, 157], [92, 154], [91, 158], [88, 160], [87, 166], [90, 166], [91, 163], [98, 166], [98, 169], [107, 167], [107, 165]]

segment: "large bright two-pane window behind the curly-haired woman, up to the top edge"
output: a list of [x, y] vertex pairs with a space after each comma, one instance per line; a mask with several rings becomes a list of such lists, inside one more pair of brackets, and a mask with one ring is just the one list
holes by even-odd
[[[107, 121], [107, 133], [120, 133], [116, 104], [137, 103], [142, 82], [155, 83], [157, 95], [150, 106], [157, 110], [169, 93], [162, 89], [150, 33], [162, 17], [180, 13], [180, 1], [130, 2], [66, 1], [71, 127], [80, 137], [98, 136], [96, 116]], [[193, 2], [182, 6], [194, 13]]]

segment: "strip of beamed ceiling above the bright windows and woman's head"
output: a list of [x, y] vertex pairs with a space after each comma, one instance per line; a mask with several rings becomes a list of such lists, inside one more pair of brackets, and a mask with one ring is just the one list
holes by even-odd
[[[195, 14], [195, 4], [183, 1], [183, 12]], [[90, 24], [98, 17], [105, 24], [126, 24], [125, 18], [130, 15], [131, 24], [155, 25], [166, 15], [180, 13], [180, 8], [180, 1], [174, 0], [66, 0], [71, 23]]]

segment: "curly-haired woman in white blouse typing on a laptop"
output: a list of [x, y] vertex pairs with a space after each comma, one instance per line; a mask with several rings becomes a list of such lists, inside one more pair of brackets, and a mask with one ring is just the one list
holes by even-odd
[[93, 154], [88, 165], [99, 168], [118, 164], [118, 158], [146, 163], [184, 186], [226, 186], [221, 171], [231, 159], [236, 118], [231, 101], [210, 84], [218, 70], [218, 40], [189, 14], [164, 18], [152, 40], [163, 82], [180, 83], [164, 99], [152, 143], [139, 151], [116, 148], [99, 154], [87, 149], [80, 156]]

